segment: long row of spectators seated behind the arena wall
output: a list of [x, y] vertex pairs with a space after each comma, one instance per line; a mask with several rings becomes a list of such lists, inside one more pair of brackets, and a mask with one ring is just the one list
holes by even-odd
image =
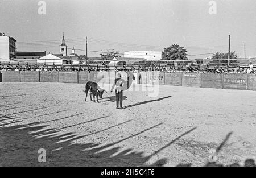
[[[73, 66], [71, 65], [0, 65], [1, 71], [110, 71], [110, 67], [107, 65], [97, 65], [97, 66]], [[175, 68], [175, 67], [115, 67], [115, 71], [131, 71], [131, 72], [141, 72], [141, 71], [151, 71], [151, 72], [184, 72], [184, 73], [243, 73], [243, 74], [256, 74], [256, 70], [254, 69], [253, 64], [249, 64], [248, 67], [237, 67], [237, 68], [222, 68], [222, 67], [186, 67], [186, 68]]]

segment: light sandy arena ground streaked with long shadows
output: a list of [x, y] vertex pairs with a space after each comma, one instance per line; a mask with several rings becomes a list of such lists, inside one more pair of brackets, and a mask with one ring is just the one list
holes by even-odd
[[255, 165], [256, 92], [161, 85], [117, 110], [114, 93], [85, 102], [84, 86], [0, 83], [0, 165], [203, 166], [211, 149], [216, 165]]

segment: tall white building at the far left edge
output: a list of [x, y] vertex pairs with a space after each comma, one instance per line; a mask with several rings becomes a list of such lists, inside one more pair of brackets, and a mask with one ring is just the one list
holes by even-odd
[[0, 36], [0, 61], [16, 58], [16, 40], [10, 36]]

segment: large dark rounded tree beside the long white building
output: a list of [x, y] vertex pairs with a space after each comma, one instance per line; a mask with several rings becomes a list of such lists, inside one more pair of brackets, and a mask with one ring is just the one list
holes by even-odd
[[168, 48], [164, 48], [162, 55], [163, 60], [186, 60], [187, 50], [177, 44], [172, 44]]

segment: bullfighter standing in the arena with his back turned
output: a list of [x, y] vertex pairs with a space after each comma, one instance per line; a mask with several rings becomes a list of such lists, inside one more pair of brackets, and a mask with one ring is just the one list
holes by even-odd
[[117, 109], [119, 109], [118, 104], [120, 100], [120, 109], [123, 109], [123, 86], [125, 85], [125, 80], [121, 78], [121, 74], [117, 74], [118, 78], [115, 78], [114, 84], [110, 90], [110, 93], [113, 92], [115, 87], [115, 101], [117, 102]]

